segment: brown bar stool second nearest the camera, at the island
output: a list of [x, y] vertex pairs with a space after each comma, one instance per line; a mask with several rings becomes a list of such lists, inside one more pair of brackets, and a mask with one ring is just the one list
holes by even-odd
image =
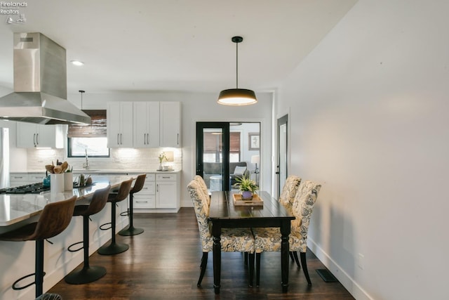
[[[83, 249], [84, 260], [83, 268], [81, 270], [72, 270], [71, 273], [65, 276], [65, 282], [71, 285], [81, 285], [83, 283], [94, 282], [106, 275], [106, 268], [102, 266], [90, 266], [89, 265], [89, 217], [93, 214], [97, 214], [103, 208], [105, 208], [107, 197], [111, 185], [107, 185], [106, 188], [95, 190], [91, 201], [88, 204], [76, 205], [73, 216], [83, 216], [83, 240], [76, 242], [68, 247], [69, 252], [77, 252]], [[72, 249], [77, 244], [83, 243], [83, 247], [78, 249]]]

